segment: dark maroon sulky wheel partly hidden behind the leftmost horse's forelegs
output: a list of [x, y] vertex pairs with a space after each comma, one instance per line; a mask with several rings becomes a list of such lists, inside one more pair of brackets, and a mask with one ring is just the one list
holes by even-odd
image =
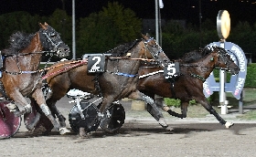
[[47, 134], [53, 129], [53, 125], [50, 120], [48, 120], [47, 116], [43, 113], [41, 113], [40, 119], [37, 122], [36, 126], [34, 128], [31, 128], [31, 124], [34, 122], [34, 120], [37, 117], [37, 110], [39, 110], [39, 107], [37, 106], [37, 103], [34, 99], [31, 99], [31, 106], [32, 111], [31, 113], [25, 113], [24, 114], [24, 123], [28, 131], [34, 130], [34, 132], [41, 132], [44, 134]]

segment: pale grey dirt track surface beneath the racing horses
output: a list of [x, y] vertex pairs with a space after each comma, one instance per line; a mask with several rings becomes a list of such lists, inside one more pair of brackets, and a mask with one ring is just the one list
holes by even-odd
[[[68, 117], [67, 100], [59, 101], [59, 110]], [[226, 129], [217, 120], [167, 119], [173, 130], [166, 131], [153, 118], [127, 117], [119, 132], [99, 129], [90, 138], [58, 132], [35, 136], [22, 123], [14, 137], [0, 141], [0, 156], [256, 156], [256, 123], [241, 122]]]

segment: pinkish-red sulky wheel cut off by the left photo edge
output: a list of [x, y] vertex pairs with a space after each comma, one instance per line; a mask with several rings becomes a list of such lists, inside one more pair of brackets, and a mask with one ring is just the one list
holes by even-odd
[[10, 138], [16, 134], [21, 124], [21, 117], [16, 117], [6, 104], [10, 101], [0, 101], [0, 139]]

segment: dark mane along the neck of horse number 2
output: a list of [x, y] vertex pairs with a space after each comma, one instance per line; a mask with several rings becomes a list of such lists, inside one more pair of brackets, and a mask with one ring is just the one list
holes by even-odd
[[126, 55], [126, 53], [131, 50], [137, 43], [139, 43], [141, 40], [134, 40], [133, 42], [124, 43], [118, 47], [114, 47], [111, 50], [105, 52], [105, 53], [111, 53], [112, 57], [122, 57]]

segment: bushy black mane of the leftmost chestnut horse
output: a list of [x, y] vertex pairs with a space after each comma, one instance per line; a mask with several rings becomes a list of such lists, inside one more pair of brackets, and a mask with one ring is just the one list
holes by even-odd
[[3, 55], [16, 55], [18, 52], [27, 47], [31, 39], [34, 37], [33, 34], [26, 34], [24, 32], [17, 31], [12, 34], [9, 38], [9, 47], [2, 50]]

